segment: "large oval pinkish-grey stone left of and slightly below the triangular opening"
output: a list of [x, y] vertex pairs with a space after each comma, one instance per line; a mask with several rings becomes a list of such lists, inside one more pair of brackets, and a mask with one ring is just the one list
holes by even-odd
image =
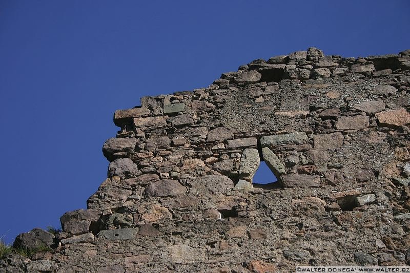
[[182, 186], [178, 181], [171, 179], [163, 179], [150, 184], [144, 191], [147, 197], [158, 196], [178, 196], [187, 191], [185, 186]]

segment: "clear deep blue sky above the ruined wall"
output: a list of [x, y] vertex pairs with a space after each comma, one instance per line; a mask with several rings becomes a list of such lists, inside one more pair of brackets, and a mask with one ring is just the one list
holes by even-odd
[[60, 227], [107, 177], [116, 109], [256, 58], [410, 48], [410, 1], [0, 0], [0, 237]]

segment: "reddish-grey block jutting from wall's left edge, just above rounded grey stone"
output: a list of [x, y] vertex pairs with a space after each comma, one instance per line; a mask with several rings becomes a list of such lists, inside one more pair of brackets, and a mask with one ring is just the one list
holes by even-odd
[[122, 153], [134, 153], [136, 144], [136, 138], [110, 138], [103, 145], [103, 154], [109, 161], [113, 161], [122, 157]]

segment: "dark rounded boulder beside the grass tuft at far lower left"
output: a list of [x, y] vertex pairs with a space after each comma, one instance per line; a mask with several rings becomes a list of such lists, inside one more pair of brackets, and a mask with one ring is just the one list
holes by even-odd
[[36, 249], [42, 246], [51, 246], [54, 243], [54, 235], [41, 228], [33, 228], [27, 233], [19, 234], [14, 240], [13, 247]]

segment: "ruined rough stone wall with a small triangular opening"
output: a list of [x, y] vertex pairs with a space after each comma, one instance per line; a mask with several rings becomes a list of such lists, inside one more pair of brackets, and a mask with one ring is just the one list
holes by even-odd
[[[254, 60], [208, 88], [143, 97], [114, 114], [108, 178], [88, 209], [63, 215], [55, 238], [16, 239], [43, 238], [53, 253], [0, 266], [410, 265], [409, 69], [409, 50], [343, 58], [310, 48]], [[262, 160], [276, 183], [253, 183]]]

